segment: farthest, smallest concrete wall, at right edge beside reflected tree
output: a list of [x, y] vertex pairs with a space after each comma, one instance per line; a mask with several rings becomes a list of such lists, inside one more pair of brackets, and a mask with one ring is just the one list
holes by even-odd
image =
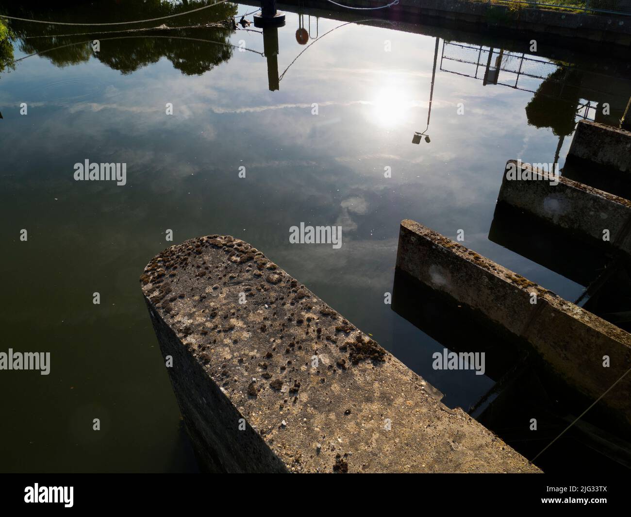
[[[574, 131], [568, 157], [581, 158], [586, 162], [631, 169], [631, 133], [591, 121], [579, 121]], [[631, 181], [631, 172], [628, 180]]]

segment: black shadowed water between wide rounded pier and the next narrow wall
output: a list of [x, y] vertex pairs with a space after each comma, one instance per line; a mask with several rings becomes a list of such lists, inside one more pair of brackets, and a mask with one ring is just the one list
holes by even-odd
[[[526, 458], [540, 453], [590, 404], [563, 384], [528, 343], [400, 270], [394, 275], [392, 310], [449, 350], [486, 353], [487, 374], [495, 382], [464, 409]], [[453, 373], [438, 371], [423, 377], [449, 393]], [[450, 405], [449, 396], [443, 402]], [[536, 419], [536, 431], [530, 429], [531, 419]], [[603, 472], [604, 468], [628, 473], [631, 444], [621, 438], [625, 436], [628, 429], [596, 405], [536, 465], [548, 473]]]

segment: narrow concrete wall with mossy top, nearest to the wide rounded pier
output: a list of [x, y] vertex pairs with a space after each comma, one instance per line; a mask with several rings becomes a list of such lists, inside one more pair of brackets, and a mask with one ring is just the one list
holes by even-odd
[[[397, 267], [524, 338], [592, 400], [631, 366], [630, 334], [420, 223], [401, 223]], [[601, 400], [624, 425], [631, 424], [630, 388], [631, 375]]]

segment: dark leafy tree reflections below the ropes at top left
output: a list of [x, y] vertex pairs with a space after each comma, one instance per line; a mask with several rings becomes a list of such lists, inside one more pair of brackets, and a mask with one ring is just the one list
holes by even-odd
[[[72, 9], [52, 9], [49, 2], [43, 1], [33, 0], [17, 5], [0, 1], [0, 13], [31, 20], [65, 23], [93, 20], [98, 23], [117, 23], [186, 13], [203, 6], [211, 6], [215, 2], [216, 0], [188, 0], [182, 3], [165, 0], [120, 0], [111, 5], [105, 2], [83, 2], [73, 4]], [[228, 23], [225, 27], [192, 27], [231, 19], [237, 15], [237, 7], [235, 3], [226, 2], [191, 15], [110, 27], [12, 21], [11, 37], [18, 42], [21, 52], [39, 54], [60, 67], [98, 59], [122, 74], [130, 74], [166, 57], [174, 68], [184, 74], [203, 74], [230, 59], [233, 51], [230, 35], [233, 29]], [[165, 27], [155, 29], [161, 25], [172, 30], [166, 30]], [[93, 40], [100, 41], [98, 51], [93, 49]], [[13, 47], [10, 42], [8, 45], [12, 56]], [[0, 51], [0, 71], [1, 55]]]

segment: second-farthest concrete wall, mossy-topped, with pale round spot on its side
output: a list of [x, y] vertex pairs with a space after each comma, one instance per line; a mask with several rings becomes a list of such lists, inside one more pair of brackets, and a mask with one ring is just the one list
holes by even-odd
[[[532, 179], [507, 179], [506, 172], [511, 167], [521, 177], [528, 174]], [[559, 176], [558, 184], [554, 185], [528, 163], [519, 166], [515, 160], [509, 160], [497, 201], [524, 210], [579, 239], [631, 253], [631, 201], [628, 199], [563, 176]]]

